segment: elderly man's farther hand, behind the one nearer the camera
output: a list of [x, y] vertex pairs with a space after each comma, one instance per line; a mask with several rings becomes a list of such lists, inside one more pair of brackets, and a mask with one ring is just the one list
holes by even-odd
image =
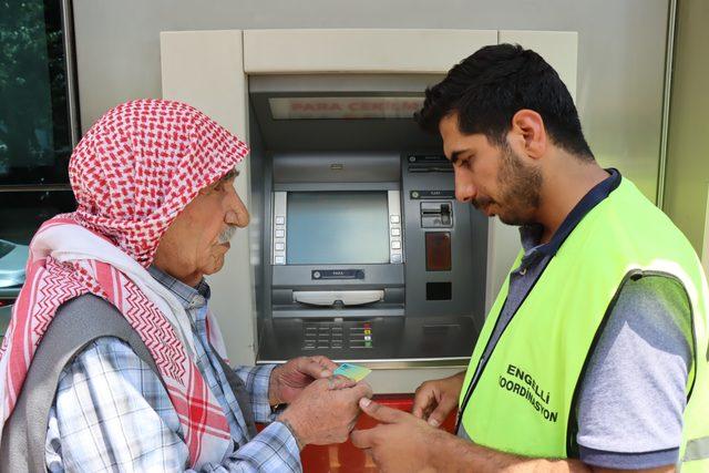
[[274, 368], [268, 400], [271, 405], [290, 404], [312, 381], [332, 376], [337, 364], [327, 357], [298, 357]]

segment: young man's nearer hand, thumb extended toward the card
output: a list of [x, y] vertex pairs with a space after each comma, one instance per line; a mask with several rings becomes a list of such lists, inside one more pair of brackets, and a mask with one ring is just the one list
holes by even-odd
[[383, 422], [373, 429], [356, 430], [352, 443], [369, 452], [382, 472], [435, 472], [441, 470], [436, 444], [451, 434], [434, 429], [407, 412], [360, 400], [362, 411]]

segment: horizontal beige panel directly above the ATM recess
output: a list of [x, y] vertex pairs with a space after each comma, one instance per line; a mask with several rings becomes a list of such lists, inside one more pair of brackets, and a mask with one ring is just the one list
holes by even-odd
[[247, 30], [249, 74], [327, 72], [446, 72], [495, 44], [494, 30]]

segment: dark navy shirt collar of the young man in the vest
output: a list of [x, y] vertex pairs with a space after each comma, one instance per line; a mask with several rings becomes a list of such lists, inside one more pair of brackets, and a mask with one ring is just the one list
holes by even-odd
[[578, 204], [568, 213], [562, 225], [552, 236], [552, 239], [543, 245], [540, 245], [542, 238], [543, 227], [542, 225], [525, 225], [520, 227], [520, 237], [522, 239], [522, 246], [525, 250], [525, 256], [533, 253], [538, 253], [544, 256], [554, 256], [562, 244], [566, 240], [568, 235], [576, 228], [576, 225], [584, 219], [596, 205], [600, 204], [608, 195], [620, 185], [620, 173], [618, 169], [606, 169], [610, 176], [596, 184], [588, 193], [578, 200]]

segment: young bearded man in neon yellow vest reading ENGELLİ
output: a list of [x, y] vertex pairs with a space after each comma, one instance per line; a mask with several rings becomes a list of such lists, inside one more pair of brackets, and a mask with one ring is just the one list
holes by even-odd
[[[456, 198], [520, 226], [466, 372], [352, 433], [384, 471], [709, 471], [707, 282], [684, 235], [596, 163], [556, 72], [486, 47], [427, 91]], [[459, 409], [458, 436], [436, 430]]]

